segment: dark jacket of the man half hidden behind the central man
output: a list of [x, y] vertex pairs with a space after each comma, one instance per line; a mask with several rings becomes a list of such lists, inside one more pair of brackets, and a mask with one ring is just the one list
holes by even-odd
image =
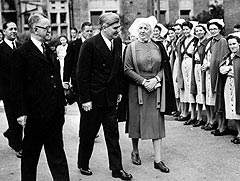
[[74, 91], [78, 94], [76, 82], [76, 67], [80, 48], [82, 46], [82, 39], [79, 38], [68, 44], [67, 55], [64, 59], [63, 82], [70, 82], [73, 85]]

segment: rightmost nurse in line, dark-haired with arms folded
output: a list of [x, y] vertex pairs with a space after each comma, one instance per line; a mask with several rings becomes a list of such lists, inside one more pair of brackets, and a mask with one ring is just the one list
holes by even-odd
[[228, 47], [230, 53], [228, 53], [220, 64], [219, 76], [221, 81], [224, 81], [224, 102], [226, 119], [234, 119], [238, 135], [231, 141], [234, 144], [240, 144], [240, 52], [239, 43], [240, 38], [237, 36], [229, 35], [227, 37]]

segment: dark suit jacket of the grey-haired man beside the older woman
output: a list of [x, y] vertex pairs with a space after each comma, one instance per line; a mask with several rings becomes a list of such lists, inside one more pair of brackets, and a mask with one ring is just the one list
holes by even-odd
[[116, 106], [122, 93], [122, 42], [113, 41], [109, 50], [101, 33], [87, 39], [81, 46], [77, 63], [77, 84], [81, 103], [93, 106]]

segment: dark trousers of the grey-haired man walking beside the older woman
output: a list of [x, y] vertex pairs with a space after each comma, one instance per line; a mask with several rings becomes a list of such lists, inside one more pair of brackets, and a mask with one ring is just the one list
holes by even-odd
[[108, 150], [110, 170], [122, 169], [122, 156], [119, 145], [116, 107], [95, 107], [91, 111], [81, 110], [78, 168], [89, 168], [94, 140], [102, 124]]

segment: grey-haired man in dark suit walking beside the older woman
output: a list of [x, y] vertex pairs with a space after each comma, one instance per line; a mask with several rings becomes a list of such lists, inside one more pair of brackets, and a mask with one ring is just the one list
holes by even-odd
[[80, 145], [78, 168], [84, 175], [92, 175], [89, 160], [94, 139], [103, 125], [112, 177], [131, 180], [123, 170], [119, 145], [116, 106], [121, 101], [122, 42], [119, 36], [120, 18], [104, 13], [99, 18], [101, 32], [86, 40], [77, 64], [77, 84], [80, 108]]

